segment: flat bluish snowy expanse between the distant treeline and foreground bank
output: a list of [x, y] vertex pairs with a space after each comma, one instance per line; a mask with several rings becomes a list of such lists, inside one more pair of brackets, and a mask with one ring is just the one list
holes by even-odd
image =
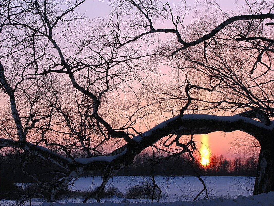
[[[249, 196], [253, 193], [255, 177], [202, 177], [206, 182], [210, 197], [235, 198], [238, 195]], [[155, 176], [156, 184], [164, 194], [162, 202], [192, 200], [203, 188], [197, 177], [163, 177]], [[92, 190], [102, 182], [101, 177], [80, 177], [70, 188], [72, 190]], [[134, 186], [152, 182], [149, 176], [115, 176], [109, 180], [106, 187], [117, 187], [123, 193]], [[202, 196], [204, 197], [204, 196]], [[201, 197], [201, 198], [202, 198]]]

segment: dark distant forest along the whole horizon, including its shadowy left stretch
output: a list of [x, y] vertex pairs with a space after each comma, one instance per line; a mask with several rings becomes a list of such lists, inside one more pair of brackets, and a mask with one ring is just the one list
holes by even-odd
[[[150, 176], [151, 174], [162, 176], [195, 176], [187, 156], [179, 156], [165, 159], [167, 154], [153, 156], [152, 153], [143, 152], [136, 156], [132, 164], [120, 170], [116, 175], [124, 176]], [[28, 161], [31, 159], [32, 161]], [[161, 160], [162, 159], [162, 160]], [[159, 161], [160, 160], [160, 161]], [[152, 167], [152, 165], [154, 165]], [[197, 159], [194, 168], [203, 176], [255, 176], [257, 158], [239, 157], [234, 160], [226, 159], [222, 155], [210, 157], [210, 164], [207, 167], [200, 165]], [[24, 168], [25, 172], [22, 172]], [[56, 167], [49, 161], [25, 156], [19, 158], [14, 153], [0, 156], [0, 175], [13, 182], [32, 182], [39, 177], [43, 181], [50, 180], [52, 176], [60, 174], [61, 168]], [[33, 176], [36, 174], [36, 176]], [[100, 172], [84, 173], [82, 176], [99, 176]]]

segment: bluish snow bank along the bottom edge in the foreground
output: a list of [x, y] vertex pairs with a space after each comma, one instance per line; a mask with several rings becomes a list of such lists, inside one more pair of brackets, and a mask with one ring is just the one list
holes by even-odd
[[204, 199], [199, 201], [176, 201], [176, 202], [144, 202], [134, 203], [123, 199], [122, 202], [114, 203], [111, 201], [92, 202], [92, 203], [47, 203], [41, 206], [274, 206], [274, 192], [259, 194], [254, 196], [238, 196], [234, 199], [215, 198]]

